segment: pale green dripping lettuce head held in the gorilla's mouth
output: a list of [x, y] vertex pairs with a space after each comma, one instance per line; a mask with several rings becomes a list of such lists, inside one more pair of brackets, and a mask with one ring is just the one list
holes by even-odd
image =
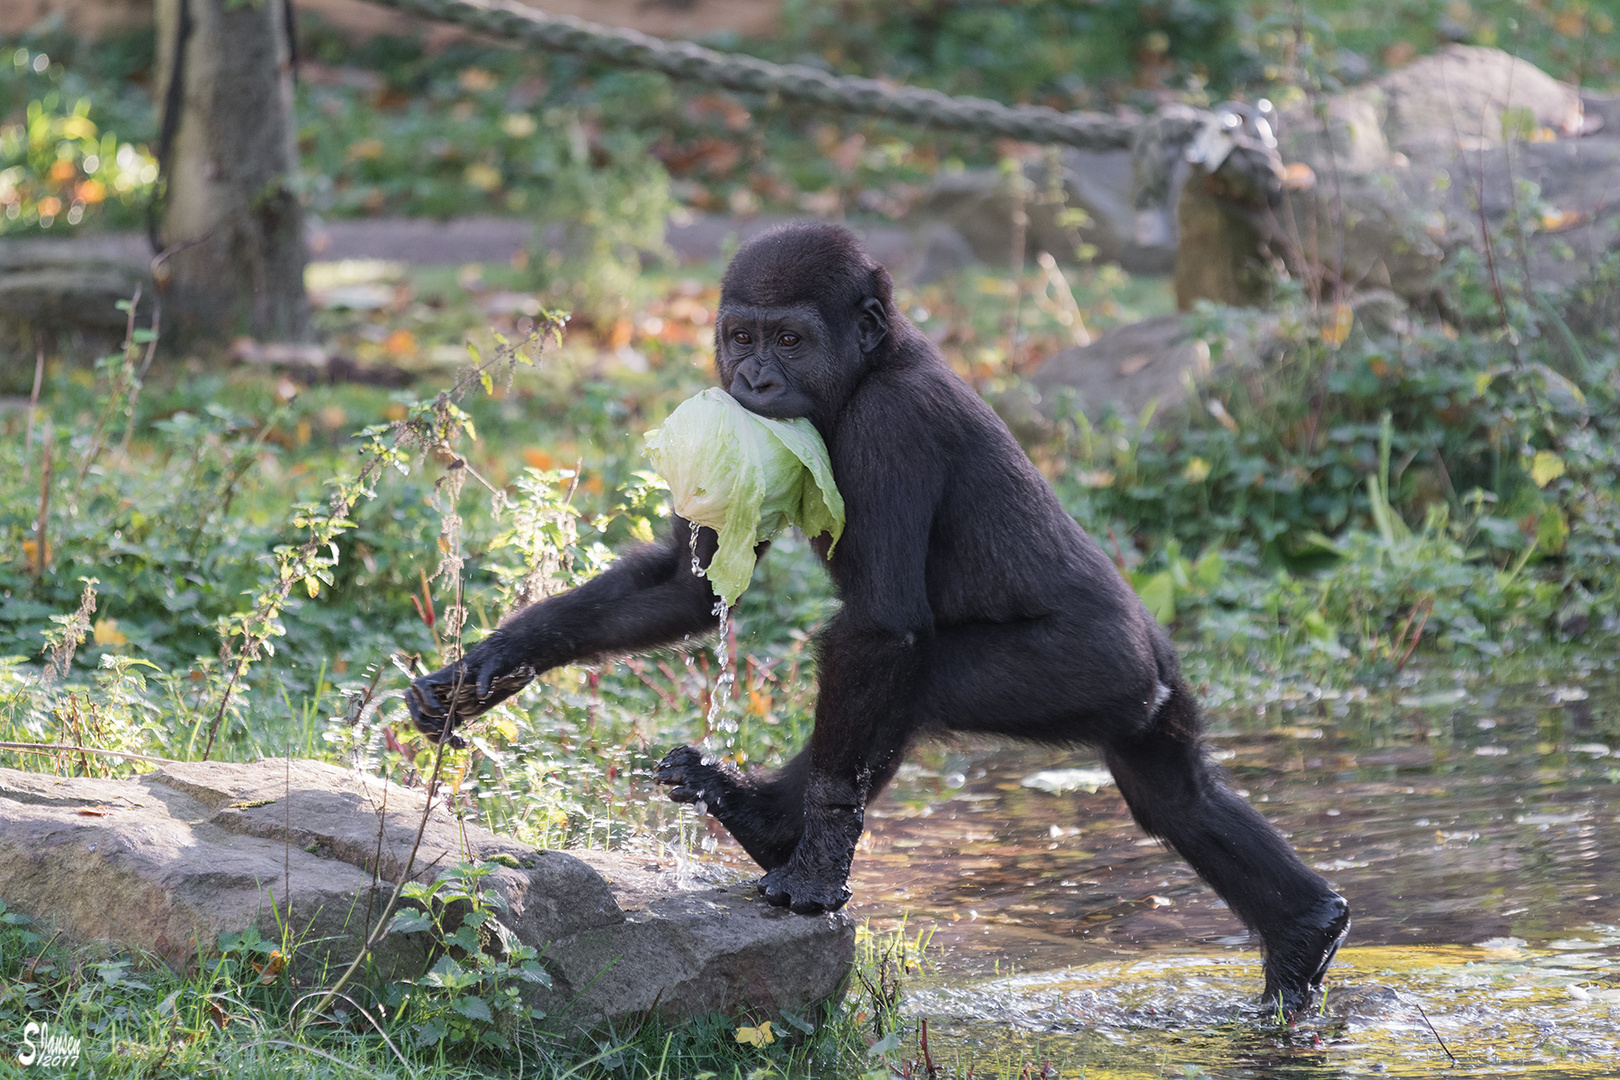
[[676, 513], [719, 533], [708, 580], [727, 604], [753, 576], [753, 547], [789, 525], [805, 536], [844, 533], [844, 499], [826, 444], [808, 419], [770, 419], [710, 387], [646, 432], [646, 457]]

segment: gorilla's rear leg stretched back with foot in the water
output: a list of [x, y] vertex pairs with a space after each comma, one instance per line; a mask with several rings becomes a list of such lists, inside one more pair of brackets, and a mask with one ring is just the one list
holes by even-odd
[[1265, 946], [1265, 993], [1283, 1012], [1322, 986], [1349, 905], [1288, 840], [1233, 792], [1204, 756], [1199, 716], [1179, 678], [1140, 735], [1103, 746], [1119, 793], [1150, 836], [1165, 840]]

